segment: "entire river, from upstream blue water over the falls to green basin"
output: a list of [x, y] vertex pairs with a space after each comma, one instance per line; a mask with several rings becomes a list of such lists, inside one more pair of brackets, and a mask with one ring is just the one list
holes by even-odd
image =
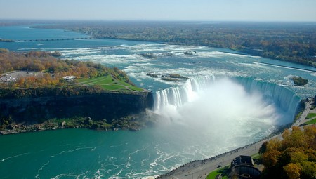
[[[0, 27], [0, 38], [20, 40], [0, 42], [0, 48], [60, 51], [64, 59], [124, 69], [134, 84], [153, 91], [152, 113], [160, 114], [161, 121], [137, 132], [67, 129], [1, 135], [0, 178], [159, 175], [261, 140], [293, 121], [301, 98], [316, 94], [316, 72], [302, 70], [315, 68], [229, 49], [117, 39], [23, 41], [85, 37], [58, 29]], [[189, 79], [164, 81], [149, 72]], [[291, 77], [309, 83], [294, 86]]]

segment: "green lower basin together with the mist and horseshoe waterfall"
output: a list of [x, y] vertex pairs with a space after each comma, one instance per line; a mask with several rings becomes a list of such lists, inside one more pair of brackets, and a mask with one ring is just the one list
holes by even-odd
[[[21, 172], [36, 178], [145, 178], [261, 140], [291, 123], [300, 102], [283, 86], [223, 76], [187, 79], [184, 86], [156, 91], [152, 98], [152, 111], [161, 116], [157, 126], [137, 132], [67, 129], [7, 135], [0, 142], [8, 146], [2, 154], [9, 155], [0, 157], [0, 166], [17, 163]], [[90, 99], [86, 105], [100, 105], [105, 98]], [[98, 105], [90, 107], [102, 114]], [[26, 142], [33, 147], [22, 147]], [[41, 159], [34, 161], [38, 155]], [[32, 168], [23, 167], [31, 163]], [[58, 172], [51, 170], [57, 166]], [[19, 176], [10, 170], [1, 175]]]

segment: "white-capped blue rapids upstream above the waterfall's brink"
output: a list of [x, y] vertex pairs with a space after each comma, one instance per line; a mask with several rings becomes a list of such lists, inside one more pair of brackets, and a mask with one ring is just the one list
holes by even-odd
[[[113, 67], [117, 66], [121, 69], [126, 69], [128, 74], [131, 74], [132, 81], [138, 81], [138, 74], [143, 78], [140, 69], [143, 72], [171, 72], [182, 74], [187, 77], [194, 77], [197, 75], [210, 75], [210, 74], [226, 74], [233, 76], [249, 77], [255, 76], [255, 78], [261, 78], [265, 81], [271, 81], [276, 84], [284, 84], [283, 78], [289, 75], [298, 76], [300, 72], [289, 71], [291, 69], [282, 69], [279, 67], [272, 67], [266, 65], [259, 65], [254, 63], [254, 60], [258, 62], [269, 62], [268, 59], [264, 59], [256, 56], [248, 56], [237, 54], [234, 51], [208, 48], [202, 46], [177, 46], [166, 44], [133, 44], [124, 46], [100, 46], [93, 48], [65, 48], [62, 50], [63, 58], [72, 58], [75, 60], [91, 60], [93, 62], [100, 62], [104, 65]], [[193, 55], [185, 55], [185, 51], [192, 51]], [[195, 53], [196, 52], [196, 53]], [[155, 55], [156, 59], [144, 58], [139, 55], [140, 53], [150, 53]], [[167, 54], [172, 54], [171, 56]], [[144, 63], [150, 63], [146, 67], [139, 67]], [[179, 70], [180, 69], [180, 70]], [[307, 74], [307, 78], [315, 77], [315, 74]], [[147, 79], [147, 81], [141, 81], [144, 88], [150, 88], [157, 90], [160, 86], [155, 86], [157, 79]], [[140, 84], [139, 83], [139, 84]], [[137, 82], [136, 82], [137, 84]], [[176, 85], [170, 81], [159, 81], [159, 84], [166, 84], [169, 86]], [[181, 84], [180, 84], [181, 85]], [[285, 83], [285, 85], [288, 85]], [[154, 88], [150, 87], [154, 86]], [[163, 86], [164, 87], [164, 86]], [[292, 87], [292, 85], [290, 85]], [[293, 86], [295, 87], [295, 86]], [[296, 90], [296, 93], [310, 93], [312, 87], [315, 86], [315, 82], [312, 86], [305, 89]], [[300, 92], [300, 91], [304, 92]], [[305, 95], [303, 95], [305, 96]]]

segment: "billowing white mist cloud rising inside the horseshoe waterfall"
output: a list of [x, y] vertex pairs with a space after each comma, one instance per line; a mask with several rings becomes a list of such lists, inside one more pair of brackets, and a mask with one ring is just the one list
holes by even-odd
[[191, 81], [161, 91], [155, 100], [160, 100], [155, 112], [161, 116], [162, 126], [169, 126], [165, 131], [168, 135], [209, 143], [221, 151], [260, 140], [283, 117], [271, 100], [265, 100], [258, 91], [246, 92], [244, 86], [228, 78], [203, 84]]

